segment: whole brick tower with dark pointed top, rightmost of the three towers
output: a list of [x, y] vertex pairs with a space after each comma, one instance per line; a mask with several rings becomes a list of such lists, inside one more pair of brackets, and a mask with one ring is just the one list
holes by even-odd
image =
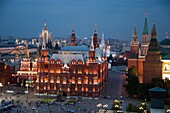
[[149, 49], [144, 61], [143, 83], [151, 83], [153, 78], [162, 78], [162, 62], [159, 44], [156, 37], [156, 27], [153, 24]]

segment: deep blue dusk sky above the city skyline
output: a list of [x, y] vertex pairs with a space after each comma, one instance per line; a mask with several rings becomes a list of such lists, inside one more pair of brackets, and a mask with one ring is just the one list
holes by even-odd
[[72, 24], [77, 37], [90, 37], [97, 24], [99, 38], [131, 40], [136, 24], [141, 40], [145, 12], [149, 33], [155, 22], [159, 41], [170, 34], [170, 0], [0, 0], [0, 35], [38, 37], [46, 20], [53, 37], [66, 37]]

